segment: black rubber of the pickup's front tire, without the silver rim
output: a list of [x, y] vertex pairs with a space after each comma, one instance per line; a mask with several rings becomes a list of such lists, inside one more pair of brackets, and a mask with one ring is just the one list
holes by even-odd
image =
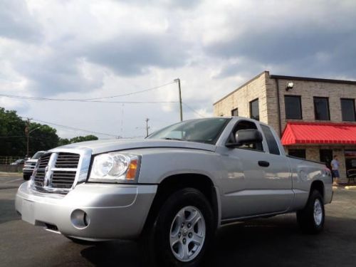
[[[169, 244], [169, 233], [172, 226], [172, 221], [177, 215], [178, 211], [185, 206], [194, 206], [204, 217], [206, 233], [203, 247], [192, 261], [182, 262], [175, 258], [172, 253]], [[209, 249], [211, 239], [214, 235], [214, 214], [211, 210], [209, 201], [207, 201], [204, 194], [201, 194], [197, 189], [186, 188], [179, 190], [172, 194], [171, 197], [165, 201], [162, 209], [159, 211], [159, 215], [154, 224], [154, 246], [155, 246], [155, 258], [158, 266], [199, 266], [204, 259], [204, 254]]]

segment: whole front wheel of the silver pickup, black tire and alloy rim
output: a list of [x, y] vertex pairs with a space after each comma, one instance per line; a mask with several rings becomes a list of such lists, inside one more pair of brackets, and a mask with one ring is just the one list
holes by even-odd
[[181, 189], [164, 201], [147, 230], [142, 249], [152, 266], [200, 266], [214, 237], [214, 213], [199, 190]]

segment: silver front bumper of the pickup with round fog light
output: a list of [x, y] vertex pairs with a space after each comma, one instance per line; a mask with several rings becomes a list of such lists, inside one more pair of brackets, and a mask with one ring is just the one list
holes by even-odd
[[[87, 183], [61, 195], [34, 191], [25, 182], [16, 194], [16, 211], [23, 221], [36, 226], [56, 226], [65, 236], [135, 239], [142, 231], [156, 192], [154, 184]], [[78, 226], [75, 218], [78, 210], [87, 214], [87, 226]]]

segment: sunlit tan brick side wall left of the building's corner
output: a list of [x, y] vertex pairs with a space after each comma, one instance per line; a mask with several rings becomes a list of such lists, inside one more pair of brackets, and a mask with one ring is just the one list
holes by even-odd
[[218, 103], [214, 104], [215, 116], [231, 116], [231, 110], [239, 109], [239, 116], [250, 117], [249, 103], [258, 98], [258, 108], [260, 112], [260, 121], [268, 123], [267, 98], [266, 98], [266, 75], [268, 72], [261, 73], [253, 80], [235, 90]]

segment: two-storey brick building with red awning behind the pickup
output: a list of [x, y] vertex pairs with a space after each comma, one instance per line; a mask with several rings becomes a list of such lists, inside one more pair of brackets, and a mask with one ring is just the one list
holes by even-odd
[[356, 177], [356, 81], [270, 75], [268, 71], [214, 103], [214, 115], [271, 125], [289, 155], [340, 161], [342, 182]]

